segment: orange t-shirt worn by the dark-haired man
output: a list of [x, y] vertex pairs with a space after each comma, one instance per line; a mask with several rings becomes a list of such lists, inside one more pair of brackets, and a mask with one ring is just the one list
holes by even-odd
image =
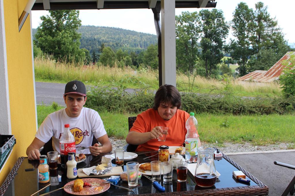
[[154, 109], [148, 109], [137, 115], [130, 131], [145, 133], [150, 132], [156, 126], [164, 126], [169, 129], [165, 142], [160, 142], [158, 139], [149, 140], [146, 143], [138, 145], [136, 151], [155, 151], [161, 145], [182, 146], [187, 132], [185, 123], [188, 118], [189, 113], [183, 110], [176, 110], [175, 115], [170, 120], [161, 118], [158, 111]]

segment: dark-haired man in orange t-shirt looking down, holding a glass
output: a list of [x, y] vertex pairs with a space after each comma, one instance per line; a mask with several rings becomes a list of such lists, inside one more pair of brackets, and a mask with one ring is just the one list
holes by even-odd
[[[161, 145], [182, 146], [187, 133], [185, 123], [189, 113], [179, 108], [181, 96], [176, 87], [168, 84], [160, 86], [155, 94], [153, 108], [137, 115], [126, 142], [138, 145], [136, 151], [155, 151]], [[158, 141], [159, 136], [162, 136], [160, 126], [169, 128], [165, 142]]]

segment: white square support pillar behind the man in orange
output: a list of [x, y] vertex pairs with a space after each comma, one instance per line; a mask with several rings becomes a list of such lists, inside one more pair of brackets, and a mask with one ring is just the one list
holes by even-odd
[[175, 1], [161, 0], [162, 84], [176, 86]]

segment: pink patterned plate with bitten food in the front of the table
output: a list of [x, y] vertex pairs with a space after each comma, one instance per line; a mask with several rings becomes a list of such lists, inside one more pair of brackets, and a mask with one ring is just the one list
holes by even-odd
[[65, 192], [72, 195], [96, 195], [109, 189], [110, 184], [99, 178], [73, 180], [65, 185]]

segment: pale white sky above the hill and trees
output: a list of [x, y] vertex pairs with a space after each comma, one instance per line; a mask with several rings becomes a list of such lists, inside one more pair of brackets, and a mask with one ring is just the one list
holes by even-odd
[[[295, 43], [295, 25], [294, 7], [295, 1], [278, 1], [278, 0], [261, 0], [265, 6], [268, 6], [268, 13], [272, 18], [276, 17], [278, 26], [282, 29], [285, 39], [290, 43]], [[234, 12], [240, 0], [215, 0], [216, 9], [221, 9], [224, 13], [225, 20], [232, 20]], [[258, 1], [247, 0], [249, 8], [255, 10], [255, 3]], [[206, 8], [212, 10], [212, 8]], [[180, 15], [183, 11], [200, 11], [197, 8], [175, 9], [175, 14]], [[32, 11], [32, 28], [37, 28], [41, 23], [40, 16], [47, 15], [48, 11]], [[80, 10], [79, 18], [82, 25], [109, 26], [122, 29], [129, 29], [143, 33], [155, 34], [155, 24], [153, 11], [151, 9], [106, 9], [106, 10]], [[231, 34], [231, 32], [230, 32]], [[227, 40], [232, 38], [228, 36]], [[293, 44], [292, 44], [293, 45]]]

